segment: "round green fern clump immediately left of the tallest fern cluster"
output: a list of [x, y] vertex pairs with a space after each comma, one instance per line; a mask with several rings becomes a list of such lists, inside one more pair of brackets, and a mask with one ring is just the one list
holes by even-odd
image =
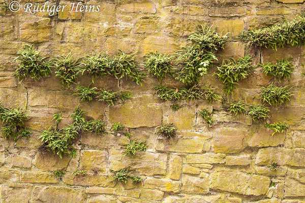
[[173, 75], [174, 67], [171, 64], [172, 56], [160, 53], [149, 53], [145, 55], [144, 67], [148, 73], [157, 77], [159, 82], [169, 74]]

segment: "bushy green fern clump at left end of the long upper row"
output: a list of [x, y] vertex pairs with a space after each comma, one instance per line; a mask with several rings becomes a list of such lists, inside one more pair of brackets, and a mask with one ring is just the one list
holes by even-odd
[[18, 63], [14, 75], [20, 81], [25, 78], [38, 81], [52, 72], [50, 62], [46, 60], [46, 57], [40, 56], [40, 51], [36, 50], [34, 45], [25, 44], [17, 52], [17, 57], [14, 60]]

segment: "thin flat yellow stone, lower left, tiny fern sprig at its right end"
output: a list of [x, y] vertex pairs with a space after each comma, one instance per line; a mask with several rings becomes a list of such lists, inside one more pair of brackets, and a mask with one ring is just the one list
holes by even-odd
[[45, 172], [22, 172], [21, 182], [23, 183], [58, 183], [59, 180], [53, 173]]

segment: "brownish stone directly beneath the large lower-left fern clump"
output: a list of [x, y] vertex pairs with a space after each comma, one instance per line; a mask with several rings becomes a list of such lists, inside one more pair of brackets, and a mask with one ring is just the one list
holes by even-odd
[[33, 164], [42, 171], [65, 171], [68, 167], [70, 156], [63, 156], [61, 159], [58, 155], [51, 152], [43, 153], [38, 152], [33, 160]]

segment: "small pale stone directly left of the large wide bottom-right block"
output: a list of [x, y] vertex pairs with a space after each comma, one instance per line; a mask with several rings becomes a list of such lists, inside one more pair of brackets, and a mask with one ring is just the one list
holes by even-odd
[[189, 175], [182, 177], [182, 192], [204, 194], [209, 192], [209, 178], [197, 178]]

